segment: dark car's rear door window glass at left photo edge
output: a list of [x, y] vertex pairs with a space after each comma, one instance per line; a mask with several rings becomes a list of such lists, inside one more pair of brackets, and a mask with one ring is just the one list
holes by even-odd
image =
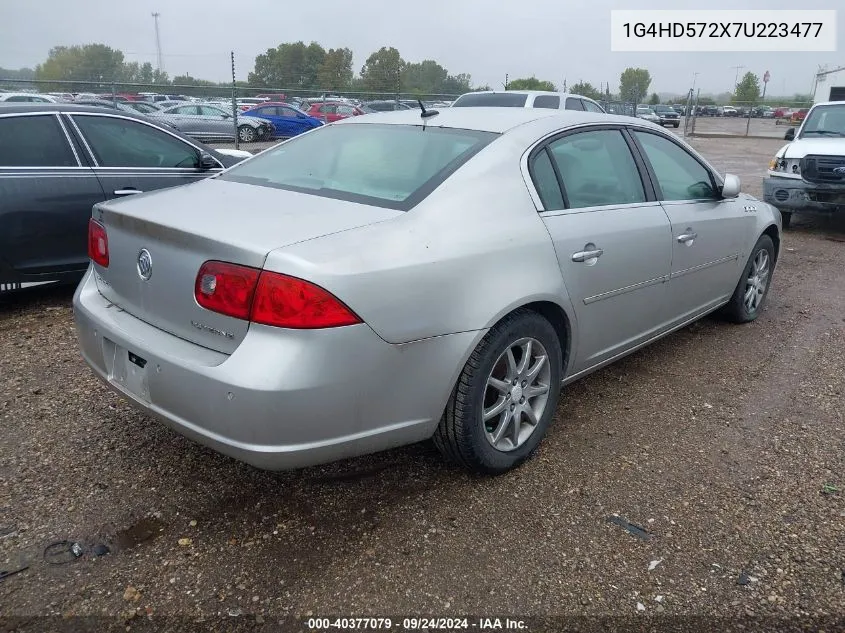
[[0, 167], [77, 167], [52, 114], [0, 118]]

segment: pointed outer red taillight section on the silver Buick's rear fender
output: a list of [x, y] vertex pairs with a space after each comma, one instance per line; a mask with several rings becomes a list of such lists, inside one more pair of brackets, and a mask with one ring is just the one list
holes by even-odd
[[361, 323], [337, 297], [312, 283], [262, 271], [250, 320], [293, 329], [318, 329]]

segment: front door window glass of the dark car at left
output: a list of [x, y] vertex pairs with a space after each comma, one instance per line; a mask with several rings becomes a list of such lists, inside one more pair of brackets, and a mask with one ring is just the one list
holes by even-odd
[[74, 115], [101, 167], [198, 167], [199, 152], [152, 126], [107, 116]]

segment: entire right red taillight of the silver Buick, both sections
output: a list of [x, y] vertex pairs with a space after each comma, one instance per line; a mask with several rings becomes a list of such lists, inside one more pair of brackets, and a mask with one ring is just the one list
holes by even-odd
[[280, 273], [209, 261], [200, 267], [194, 296], [203, 308], [262, 325], [319, 329], [361, 319], [337, 297]]

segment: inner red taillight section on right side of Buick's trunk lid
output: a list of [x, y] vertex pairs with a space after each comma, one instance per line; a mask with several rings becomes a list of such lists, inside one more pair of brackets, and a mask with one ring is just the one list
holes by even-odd
[[194, 297], [207, 310], [248, 319], [260, 272], [247, 266], [205, 262], [197, 273]]

